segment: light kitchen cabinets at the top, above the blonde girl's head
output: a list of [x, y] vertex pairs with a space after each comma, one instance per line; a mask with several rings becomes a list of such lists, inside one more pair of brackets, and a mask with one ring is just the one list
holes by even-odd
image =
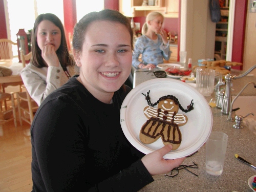
[[119, 12], [127, 17], [146, 16], [158, 11], [164, 17], [178, 17], [179, 0], [155, 0], [153, 6], [142, 6], [143, 0], [119, 0]]

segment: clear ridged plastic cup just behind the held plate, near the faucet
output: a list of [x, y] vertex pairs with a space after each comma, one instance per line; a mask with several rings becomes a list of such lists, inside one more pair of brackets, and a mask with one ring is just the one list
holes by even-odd
[[215, 70], [196, 68], [196, 89], [203, 96], [210, 96], [214, 92]]

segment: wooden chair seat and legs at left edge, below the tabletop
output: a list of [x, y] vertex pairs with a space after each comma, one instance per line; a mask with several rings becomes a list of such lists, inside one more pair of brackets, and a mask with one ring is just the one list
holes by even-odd
[[11, 100], [11, 106], [4, 110], [0, 108], [0, 123], [4, 124], [6, 122], [9, 122], [11, 120], [14, 120], [14, 125], [17, 127], [17, 120], [16, 120], [16, 109], [15, 109], [15, 103], [14, 103], [14, 96], [13, 93], [0, 93], [0, 102]]

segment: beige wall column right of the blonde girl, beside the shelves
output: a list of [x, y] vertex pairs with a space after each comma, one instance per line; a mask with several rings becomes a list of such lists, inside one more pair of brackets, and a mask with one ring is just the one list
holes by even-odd
[[[187, 51], [187, 58], [192, 58], [193, 62], [214, 59], [216, 23], [210, 19], [209, 0], [181, 0], [181, 4], [186, 10], [181, 10], [185, 15], [181, 21], [181, 37], [185, 31], [185, 41], [181, 39], [180, 48]], [[185, 27], [183, 22], [186, 22]]]

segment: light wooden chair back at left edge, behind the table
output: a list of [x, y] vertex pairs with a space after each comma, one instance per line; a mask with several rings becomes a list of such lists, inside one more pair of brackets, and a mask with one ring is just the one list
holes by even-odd
[[13, 42], [9, 39], [0, 39], [0, 58], [1, 59], [12, 59], [13, 52], [12, 46], [17, 45], [16, 42]]

